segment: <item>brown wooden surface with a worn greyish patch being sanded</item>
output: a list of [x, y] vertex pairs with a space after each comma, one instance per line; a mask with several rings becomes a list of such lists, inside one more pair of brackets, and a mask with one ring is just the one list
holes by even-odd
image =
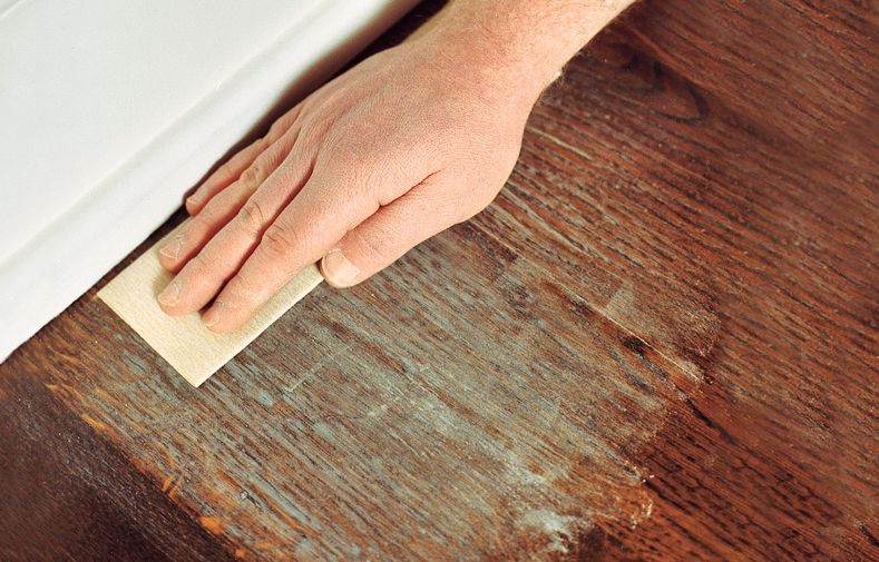
[[0, 366], [0, 560], [879, 559], [876, 32], [637, 4], [487, 211], [198, 391], [90, 290]]

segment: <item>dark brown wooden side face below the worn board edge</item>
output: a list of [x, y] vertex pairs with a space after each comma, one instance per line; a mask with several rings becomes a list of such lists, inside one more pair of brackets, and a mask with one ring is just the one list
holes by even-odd
[[21, 375], [0, 390], [0, 560], [235, 560], [131, 470], [95, 432], [99, 422], [71, 415], [50, 384]]

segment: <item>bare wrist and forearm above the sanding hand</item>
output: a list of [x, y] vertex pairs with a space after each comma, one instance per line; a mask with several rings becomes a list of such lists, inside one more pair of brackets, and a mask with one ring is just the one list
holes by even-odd
[[553, 77], [634, 0], [451, 0], [419, 37], [487, 82], [537, 99]]

